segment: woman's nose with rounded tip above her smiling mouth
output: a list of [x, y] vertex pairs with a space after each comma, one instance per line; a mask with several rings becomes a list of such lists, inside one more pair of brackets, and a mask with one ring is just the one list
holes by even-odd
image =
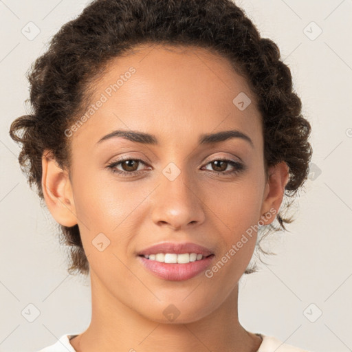
[[173, 181], [162, 175], [160, 182], [152, 199], [152, 219], [156, 225], [186, 230], [203, 223], [206, 205], [199, 185], [182, 172]]

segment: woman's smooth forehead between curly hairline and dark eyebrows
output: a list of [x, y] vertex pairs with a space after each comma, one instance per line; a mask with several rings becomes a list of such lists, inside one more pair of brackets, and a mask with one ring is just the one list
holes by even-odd
[[[233, 128], [254, 140], [261, 135], [245, 78], [227, 59], [199, 47], [134, 47], [111, 60], [92, 88], [91, 111], [83, 112], [87, 122], [75, 133], [76, 142], [97, 142], [115, 129], [153, 133], [160, 144], [170, 136], [198, 140], [202, 133]], [[243, 94], [251, 100], [245, 110], [234, 103]]]

